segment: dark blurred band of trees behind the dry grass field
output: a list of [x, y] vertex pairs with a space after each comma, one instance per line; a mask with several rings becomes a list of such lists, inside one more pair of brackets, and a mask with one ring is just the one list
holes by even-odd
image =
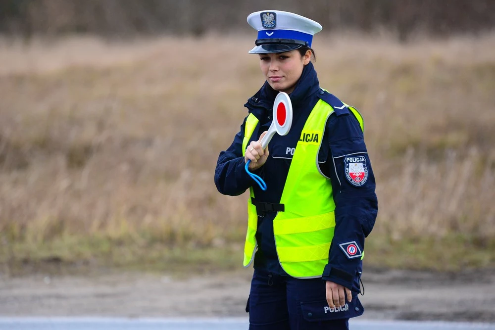
[[495, 26], [495, 0], [0, 0], [0, 32], [93, 33], [105, 36], [173, 33], [201, 36], [209, 30], [248, 30], [252, 11], [294, 11], [326, 31], [386, 28], [406, 41], [433, 35], [478, 32]]

